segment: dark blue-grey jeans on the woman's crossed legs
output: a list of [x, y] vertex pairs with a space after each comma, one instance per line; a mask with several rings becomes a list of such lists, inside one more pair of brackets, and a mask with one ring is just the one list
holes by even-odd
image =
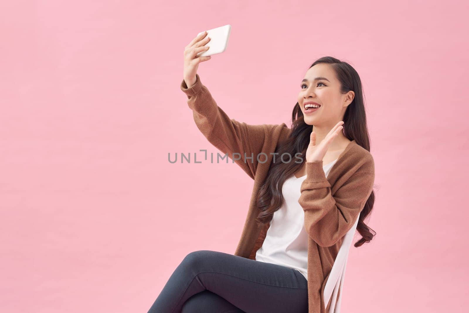
[[295, 269], [241, 256], [189, 253], [148, 313], [308, 313], [308, 281]]

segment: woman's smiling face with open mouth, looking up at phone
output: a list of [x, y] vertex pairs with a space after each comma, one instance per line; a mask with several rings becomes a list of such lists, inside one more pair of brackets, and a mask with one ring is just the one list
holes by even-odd
[[[306, 81], [301, 82], [298, 104], [303, 112], [304, 121], [308, 125], [332, 127], [342, 120], [348, 104], [355, 93], [340, 93], [340, 82], [333, 68], [326, 63], [318, 63], [308, 69], [304, 75]], [[305, 104], [314, 102], [320, 105], [314, 111], [305, 109]], [[313, 108], [311, 108], [313, 109]]]

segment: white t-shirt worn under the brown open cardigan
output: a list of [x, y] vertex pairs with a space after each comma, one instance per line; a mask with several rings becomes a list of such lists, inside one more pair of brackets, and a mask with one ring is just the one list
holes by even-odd
[[[337, 160], [323, 166], [326, 177]], [[283, 204], [273, 213], [264, 243], [257, 250], [256, 261], [296, 269], [308, 280], [308, 233], [304, 228], [304, 211], [298, 203], [301, 183], [305, 179], [306, 175], [300, 178], [292, 175], [283, 184]]]

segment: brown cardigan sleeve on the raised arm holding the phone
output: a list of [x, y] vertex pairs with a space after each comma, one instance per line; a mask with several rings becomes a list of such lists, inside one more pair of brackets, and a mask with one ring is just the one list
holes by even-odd
[[[249, 125], [230, 119], [217, 105], [210, 91], [200, 81], [196, 74], [196, 82], [190, 88], [184, 80], [181, 90], [187, 95], [187, 103], [193, 112], [197, 128], [224, 155], [238, 164], [254, 179], [257, 169], [257, 156], [262, 151], [266, 135], [275, 125]], [[234, 155], [236, 153], [236, 155]], [[268, 156], [259, 155], [259, 161], [264, 162]], [[223, 160], [222, 160], [223, 161]]]

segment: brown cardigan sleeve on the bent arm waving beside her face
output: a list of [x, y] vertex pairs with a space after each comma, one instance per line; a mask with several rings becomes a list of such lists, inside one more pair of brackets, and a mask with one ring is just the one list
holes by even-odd
[[333, 246], [352, 228], [373, 190], [373, 159], [360, 166], [334, 195], [323, 161], [306, 162], [306, 174], [298, 200], [304, 211], [304, 227], [319, 246]]

